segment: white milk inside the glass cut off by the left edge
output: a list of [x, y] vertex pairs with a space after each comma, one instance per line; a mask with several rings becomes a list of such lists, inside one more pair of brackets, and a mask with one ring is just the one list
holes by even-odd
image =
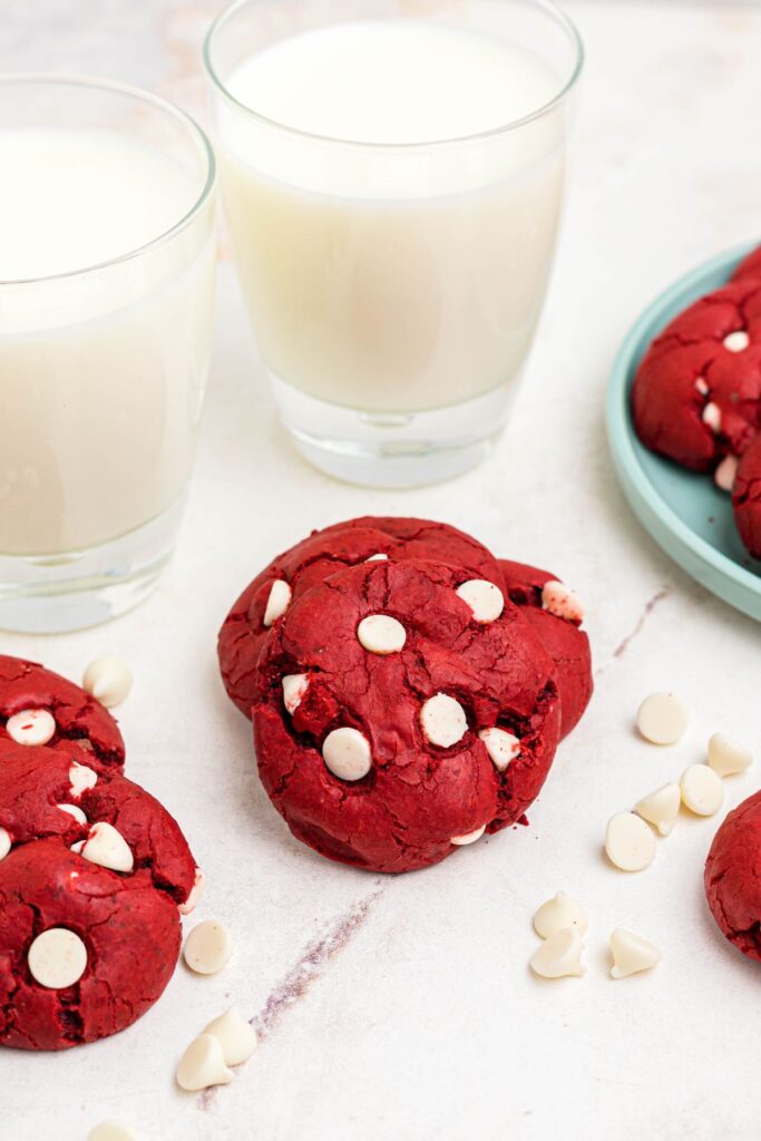
[[199, 176], [115, 131], [1, 130], [0, 170], [0, 555], [72, 552], [185, 487], [211, 215], [149, 245], [193, 210]]

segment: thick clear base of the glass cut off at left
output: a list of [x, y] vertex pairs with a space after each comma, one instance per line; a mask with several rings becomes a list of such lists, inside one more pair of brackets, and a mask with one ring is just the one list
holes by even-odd
[[65, 633], [124, 614], [151, 593], [175, 549], [185, 496], [119, 539], [64, 555], [0, 555], [0, 630]]

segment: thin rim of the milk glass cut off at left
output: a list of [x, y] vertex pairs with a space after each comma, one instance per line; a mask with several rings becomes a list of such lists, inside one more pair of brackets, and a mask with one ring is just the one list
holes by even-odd
[[189, 210], [187, 210], [181, 218], [170, 226], [169, 229], [164, 229], [160, 234], [156, 234], [155, 237], [152, 237], [148, 242], [144, 242], [143, 245], [126, 250], [123, 253], [118, 253], [113, 258], [107, 258], [105, 261], [98, 261], [89, 266], [80, 266], [76, 269], [64, 269], [57, 274], [43, 274], [42, 276], [37, 277], [19, 278], [0, 277], [0, 289], [8, 285], [34, 285], [42, 282], [65, 281], [70, 277], [81, 277], [84, 274], [97, 273], [98, 270], [107, 269], [111, 266], [130, 261], [132, 258], [137, 258], [141, 253], [146, 253], [148, 250], [171, 241], [172, 237], [191, 225], [194, 218], [201, 212], [205, 203], [209, 201], [217, 180], [217, 160], [214, 157], [213, 148], [205, 131], [195, 121], [193, 115], [189, 115], [176, 104], [170, 103], [169, 99], [164, 99], [160, 95], [154, 95], [153, 91], [146, 91], [140, 87], [135, 87], [131, 83], [121, 83], [116, 80], [100, 79], [91, 75], [70, 75], [60, 72], [3, 72], [0, 74], [0, 91], [2, 91], [5, 86], [14, 83], [37, 83], [40, 86], [62, 84], [68, 87], [89, 88], [90, 90], [111, 91], [115, 95], [129, 96], [140, 103], [149, 104], [156, 111], [168, 114], [172, 119], [177, 120], [194, 139], [195, 144], [200, 147], [201, 154], [205, 159], [205, 179]]

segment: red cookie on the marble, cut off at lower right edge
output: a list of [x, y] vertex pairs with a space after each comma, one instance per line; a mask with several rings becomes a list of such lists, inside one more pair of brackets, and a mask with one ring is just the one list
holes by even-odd
[[709, 907], [722, 932], [761, 962], [761, 792], [730, 812], [705, 864]]

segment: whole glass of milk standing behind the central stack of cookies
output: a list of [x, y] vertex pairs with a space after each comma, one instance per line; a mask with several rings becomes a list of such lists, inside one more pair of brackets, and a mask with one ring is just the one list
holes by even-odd
[[543, 0], [242, 0], [205, 44], [233, 250], [299, 451], [431, 483], [504, 427], [582, 47]]

